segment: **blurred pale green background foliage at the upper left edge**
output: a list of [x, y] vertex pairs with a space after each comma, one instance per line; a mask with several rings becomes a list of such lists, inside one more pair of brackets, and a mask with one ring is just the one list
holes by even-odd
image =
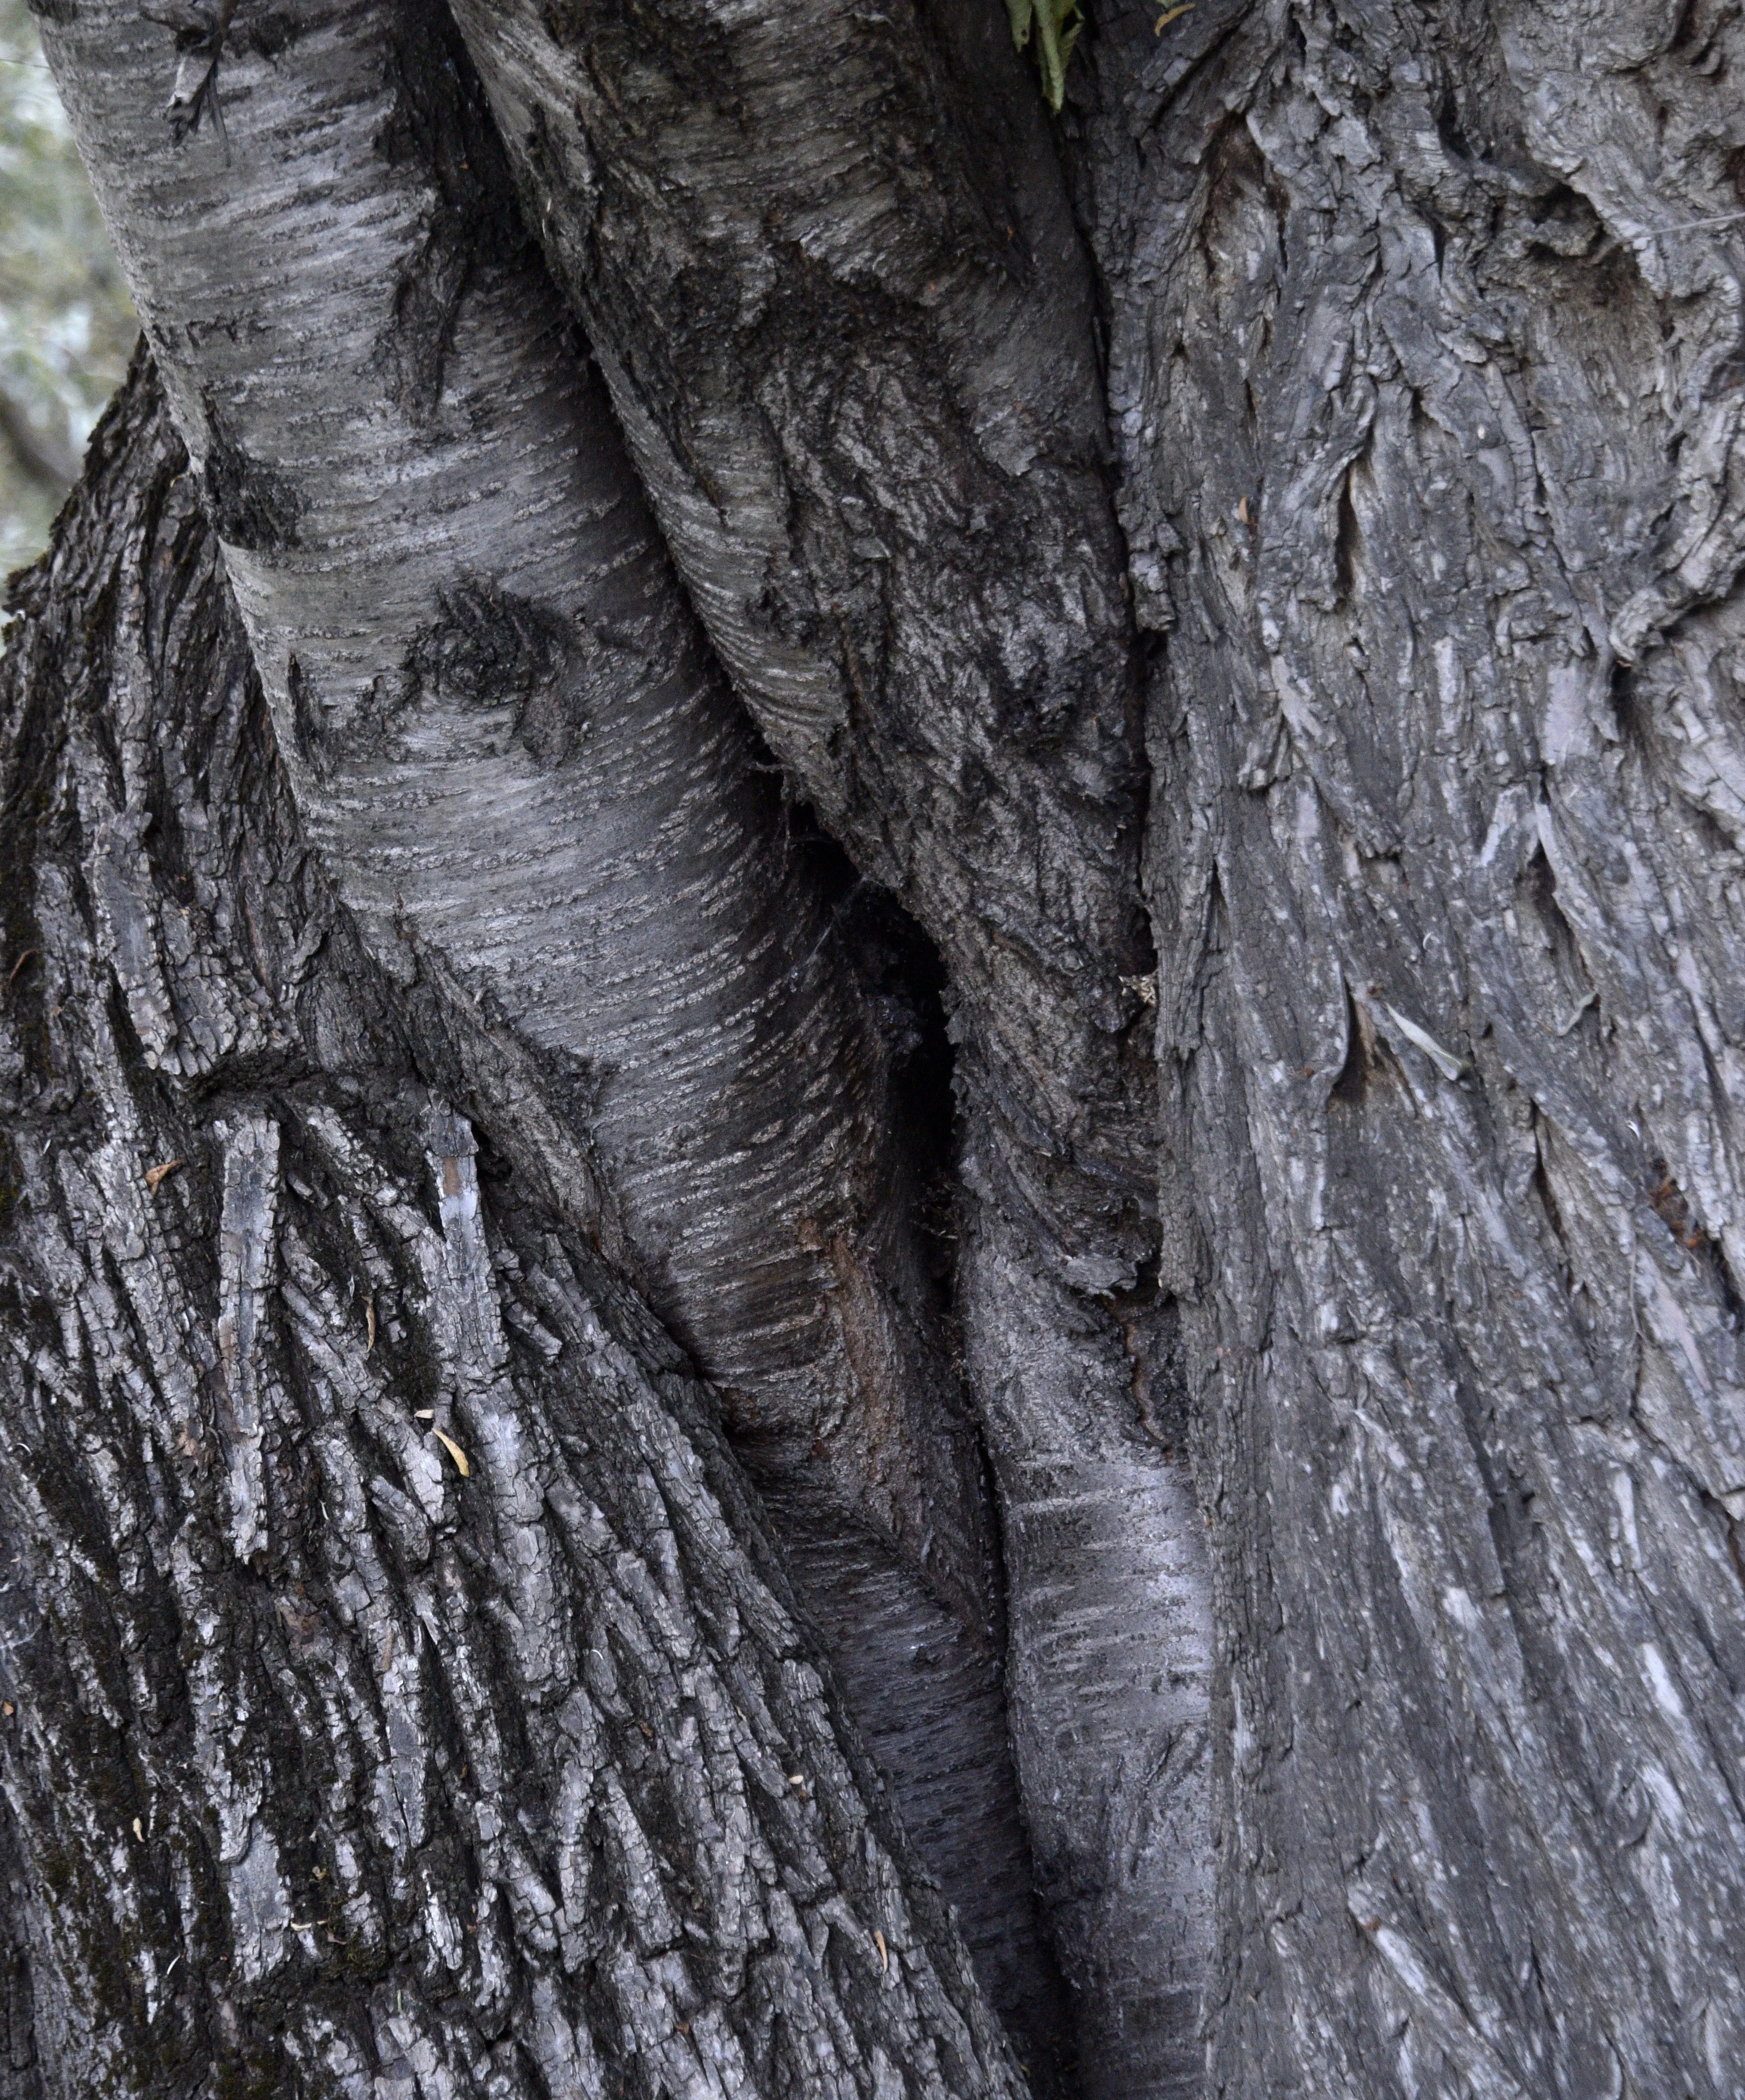
[[25, 0], [0, 0], [0, 575], [34, 561], [139, 323]]

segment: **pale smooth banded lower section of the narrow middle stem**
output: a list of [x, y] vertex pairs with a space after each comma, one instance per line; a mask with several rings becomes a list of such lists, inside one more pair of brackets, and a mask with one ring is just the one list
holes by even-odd
[[970, 1203], [964, 1354], [1000, 1485], [1018, 1785], [1086, 2100], [1205, 2090], [1212, 1586], [1172, 1308], [1117, 1317]]

